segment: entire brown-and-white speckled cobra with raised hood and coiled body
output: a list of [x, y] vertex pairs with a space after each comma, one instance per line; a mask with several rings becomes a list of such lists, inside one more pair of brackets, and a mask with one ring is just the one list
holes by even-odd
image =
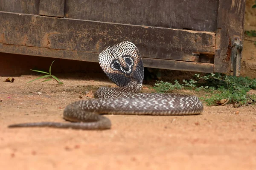
[[143, 61], [136, 46], [121, 42], [99, 54], [99, 64], [118, 88], [102, 87], [96, 99], [73, 102], [64, 109], [70, 123], [36, 122], [9, 127], [58, 127], [74, 129], [110, 129], [111, 121], [100, 114], [195, 115], [203, 111], [196, 96], [179, 94], [143, 94]]

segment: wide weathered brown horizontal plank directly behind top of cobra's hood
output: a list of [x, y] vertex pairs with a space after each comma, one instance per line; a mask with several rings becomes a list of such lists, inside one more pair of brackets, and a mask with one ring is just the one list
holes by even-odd
[[143, 57], [192, 61], [215, 53], [215, 33], [0, 12], [0, 43], [99, 53], [131, 41]]

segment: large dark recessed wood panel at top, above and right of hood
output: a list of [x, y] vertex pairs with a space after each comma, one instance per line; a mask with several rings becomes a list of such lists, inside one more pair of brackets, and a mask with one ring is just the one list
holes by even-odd
[[65, 17], [216, 31], [218, 0], [66, 0]]

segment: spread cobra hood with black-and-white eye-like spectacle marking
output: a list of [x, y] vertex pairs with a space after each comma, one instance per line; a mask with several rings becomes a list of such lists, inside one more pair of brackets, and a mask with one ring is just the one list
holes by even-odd
[[131, 81], [138, 84], [143, 82], [143, 61], [132, 42], [125, 41], [106, 48], [99, 54], [99, 65], [119, 87], [124, 87]]

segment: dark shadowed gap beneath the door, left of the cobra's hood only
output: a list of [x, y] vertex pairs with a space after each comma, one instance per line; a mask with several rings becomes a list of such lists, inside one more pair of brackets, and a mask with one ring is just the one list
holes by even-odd
[[49, 71], [52, 61], [52, 73], [103, 73], [97, 62], [83, 62], [70, 59], [27, 56], [18, 54], [0, 53], [0, 76], [20, 76], [35, 74], [29, 69]]

